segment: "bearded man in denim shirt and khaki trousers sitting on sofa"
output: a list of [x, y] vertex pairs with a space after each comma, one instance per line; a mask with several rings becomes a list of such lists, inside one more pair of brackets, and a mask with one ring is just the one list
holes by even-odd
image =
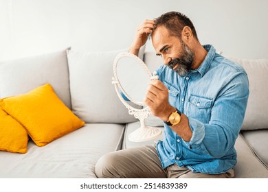
[[145, 104], [164, 121], [164, 141], [100, 158], [98, 178], [233, 178], [234, 143], [249, 84], [238, 64], [201, 45], [194, 25], [179, 12], [146, 20], [130, 52], [152, 37], [164, 65], [148, 86]]

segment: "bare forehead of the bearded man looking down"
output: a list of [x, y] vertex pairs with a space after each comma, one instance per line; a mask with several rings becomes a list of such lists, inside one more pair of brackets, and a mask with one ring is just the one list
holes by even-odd
[[163, 25], [158, 26], [152, 34], [152, 43], [155, 51], [159, 51], [161, 47], [165, 45], [171, 45], [175, 43], [179, 43], [179, 38], [176, 36], [172, 36], [166, 27]]

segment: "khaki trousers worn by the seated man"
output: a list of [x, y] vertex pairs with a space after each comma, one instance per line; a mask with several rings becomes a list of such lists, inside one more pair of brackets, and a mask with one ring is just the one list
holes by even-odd
[[123, 149], [102, 156], [95, 167], [98, 178], [234, 178], [234, 170], [221, 174], [194, 173], [177, 164], [163, 169], [156, 145]]

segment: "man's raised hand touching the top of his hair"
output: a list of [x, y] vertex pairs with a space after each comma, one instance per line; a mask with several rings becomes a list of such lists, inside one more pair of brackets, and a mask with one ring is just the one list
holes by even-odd
[[148, 36], [153, 32], [154, 28], [155, 21], [145, 20], [144, 23], [137, 28], [137, 32], [129, 52], [137, 56], [139, 53], [139, 48], [146, 43]]

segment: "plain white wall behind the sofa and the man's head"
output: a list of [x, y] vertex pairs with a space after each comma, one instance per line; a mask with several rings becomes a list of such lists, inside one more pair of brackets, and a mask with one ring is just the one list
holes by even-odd
[[201, 43], [225, 56], [268, 58], [265, 0], [0, 0], [0, 60], [70, 46], [124, 49], [144, 19], [170, 10], [189, 16]]

